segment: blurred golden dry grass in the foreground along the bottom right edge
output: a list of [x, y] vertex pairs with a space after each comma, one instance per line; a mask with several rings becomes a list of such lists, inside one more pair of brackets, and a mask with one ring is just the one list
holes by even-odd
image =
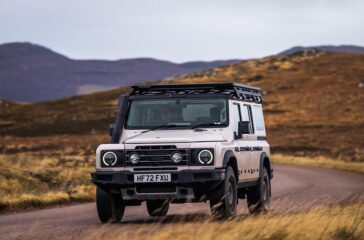
[[[153, 229], [146, 233], [145, 228]], [[217, 222], [208, 218], [141, 225], [132, 234], [122, 226], [90, 231], [85, 239], [363, 239], [364, 205], [320, 207], [307, 212], [243, 216]]]

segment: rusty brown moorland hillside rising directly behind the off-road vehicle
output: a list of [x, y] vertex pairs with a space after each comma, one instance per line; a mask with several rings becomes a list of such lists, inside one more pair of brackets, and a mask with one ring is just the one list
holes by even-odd
[[[364, 54], [311, 50], [245, 61], [159, 83], [221, 81], [262, 88], [273, 152], [364, 160]], [[127, 91], [121, 88], [4, 107], [0, 111], [0, 135], [14, 136], [17, 141], [23, 136], [37, 137], [37, 141], [49, 145], [55, 139], [64, 141], [60, 134], [83, 142], [87, 142], [87, 136], [99, 134], [103, 136], [99, 140], [90, 138], [96, 145], [107, 140], [118, 95]], [[79, 139], [80, 135], [84, 137]], [[0, 151], [6, 151], [4, 145]]]

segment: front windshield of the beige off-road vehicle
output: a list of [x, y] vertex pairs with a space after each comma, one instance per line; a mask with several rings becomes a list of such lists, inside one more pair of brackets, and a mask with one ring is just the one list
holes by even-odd
[[226, 126], [227, 101], [218, 99], [133, 100], [126, 128]]

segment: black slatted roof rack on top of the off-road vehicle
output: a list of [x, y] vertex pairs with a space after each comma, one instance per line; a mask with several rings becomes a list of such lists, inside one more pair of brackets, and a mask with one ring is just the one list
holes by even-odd
[[130, 96], [226, 94], [232, 99], [262, 103], [260, 88], [239, 83], [139, 85], [132, 86]]

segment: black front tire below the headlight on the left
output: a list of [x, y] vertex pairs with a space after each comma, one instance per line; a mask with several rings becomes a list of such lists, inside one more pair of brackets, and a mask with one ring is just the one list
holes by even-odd
[[125, 211], [120, 194], [109, 194], [99, 187], [96, 188], [96, 208], [102, 223], [120, 222]]

